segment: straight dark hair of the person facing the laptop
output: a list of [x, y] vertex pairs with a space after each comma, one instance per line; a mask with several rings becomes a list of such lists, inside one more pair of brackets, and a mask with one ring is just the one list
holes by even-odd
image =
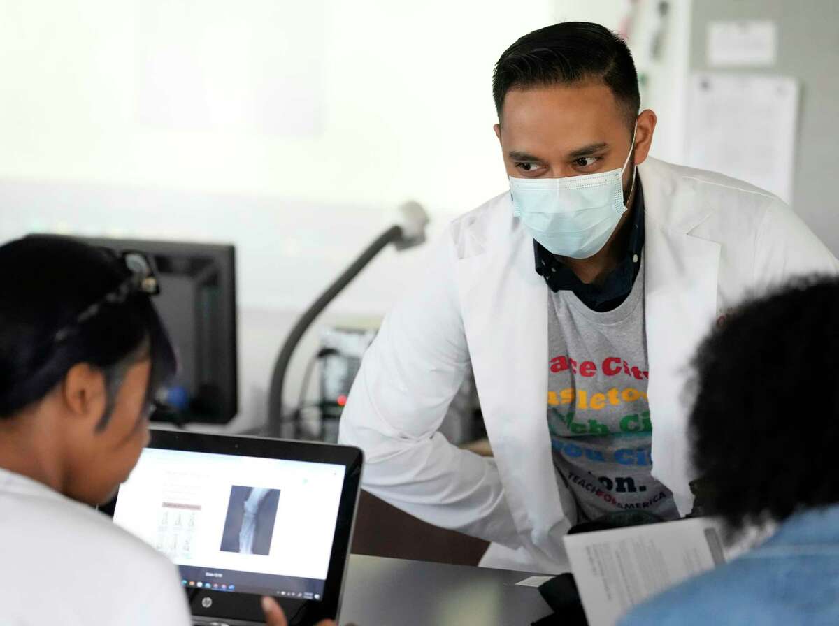
[[[175, 373], [175, 353], [149, 296], [107, 303], [76, 318], [130, 275], [117, 256], [66, 237], [35, 235], [0, 247], [0, 419], [47, 396], [79, 363], [105, 375], [108, 408], [127, 367], [148, 356], [146, 401]], [[65, 328], [74, 332], [56, 340]]]

